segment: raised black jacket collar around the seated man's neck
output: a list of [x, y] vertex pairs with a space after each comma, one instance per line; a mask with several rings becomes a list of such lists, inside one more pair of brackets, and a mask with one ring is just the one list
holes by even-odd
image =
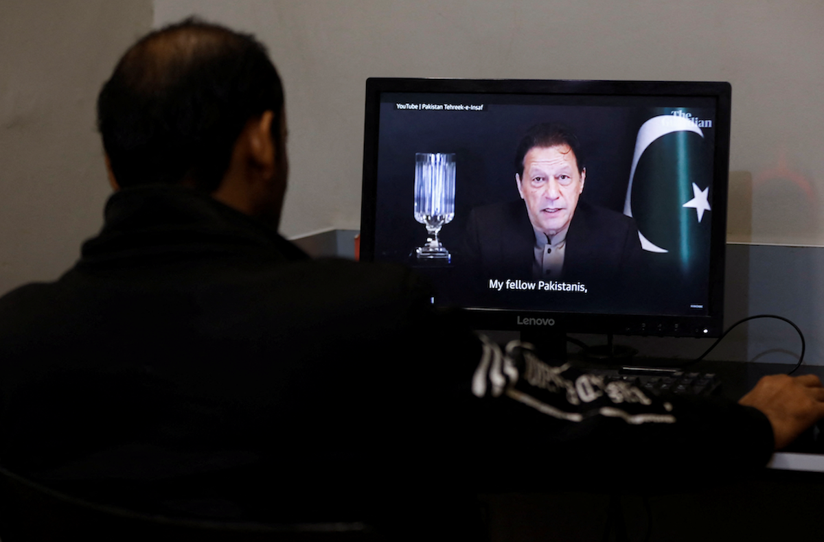
[[121, 189], [105, 206], [100, 235], [82, 246], [87, 263], [129, 255], [252, 252], [274, 259], [309, 256], [277, 231], [197, 190], [178, 185]]

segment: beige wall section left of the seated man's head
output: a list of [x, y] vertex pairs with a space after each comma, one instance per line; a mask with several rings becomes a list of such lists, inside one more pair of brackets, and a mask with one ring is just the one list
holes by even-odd
[[0, 293], [57, 278], [109, 194], [97, 91], [151, 0], [0, 2]]

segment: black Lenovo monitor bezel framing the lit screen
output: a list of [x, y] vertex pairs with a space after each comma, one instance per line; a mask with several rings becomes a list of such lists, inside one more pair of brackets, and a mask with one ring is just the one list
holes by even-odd
[[[366, 82], [363, 143], [360, 259], [374, 259], [377, 213], [378, 126], [381, 95], [386, 92], [672, 96], [715, 100], [713, 171], [714, 213], [706, 315], [621, 315], [592, 312], [521, 311], [463, 307], [475, 329], [532, 330], [594, 334], [719, 337], [723, 333], [724, 258], [727, 236], [729, 143], [732, 87], [728, 82], [572, 81], [525, 79], [438, 79], [371, 77]], [[528, 324], [523, 324], [528, 322]]]

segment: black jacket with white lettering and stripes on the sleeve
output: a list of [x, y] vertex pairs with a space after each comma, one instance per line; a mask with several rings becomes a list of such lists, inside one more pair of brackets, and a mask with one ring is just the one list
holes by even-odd
[[770, 456], [755, 409], [598, 381], [583, 400], [574, 370], [482, 343], [430, 294], [190, 189], [121, 190], [73, 269], [0, 299], [0, 458], [102, 502], [292, 521], [548, 488], [592, 461]]

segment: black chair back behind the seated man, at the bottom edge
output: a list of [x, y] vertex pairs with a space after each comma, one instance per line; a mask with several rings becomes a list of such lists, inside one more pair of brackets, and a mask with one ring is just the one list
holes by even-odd
[[175, 540], [176, 542], [372, 542], [363, 523], [265, 525], [151, 516], [74, 498], [0, 467], [2, 542]]

